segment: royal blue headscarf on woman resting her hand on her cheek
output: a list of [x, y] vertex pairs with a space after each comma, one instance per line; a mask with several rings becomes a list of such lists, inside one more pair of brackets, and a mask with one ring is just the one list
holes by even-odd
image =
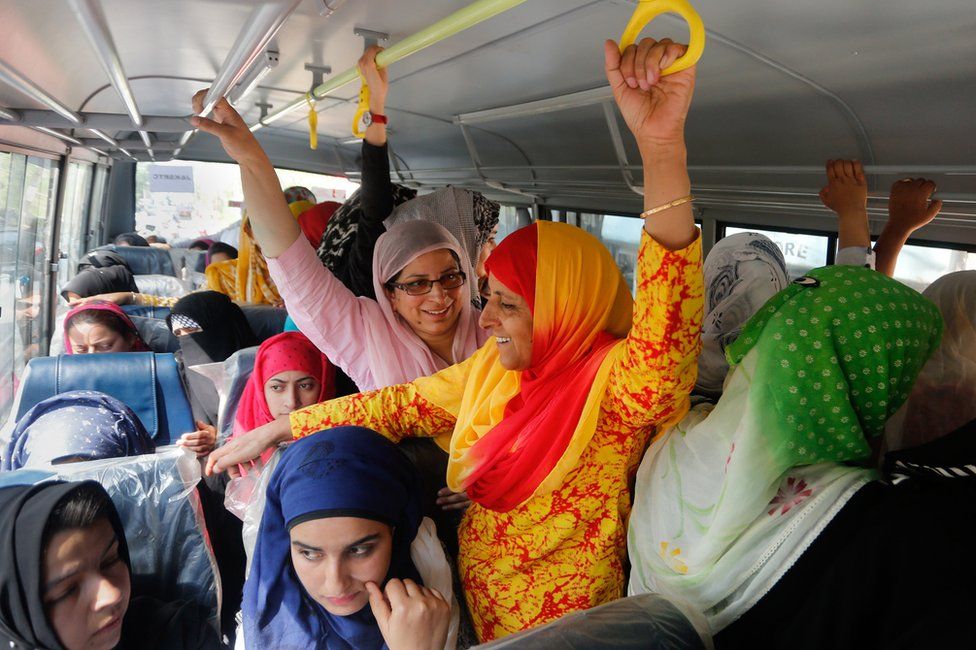
[[328, 613], [305, 591], [291, 563], [289, 531], [326, 517], [361, 517], [394, 528], [386, 579], [420, 583], [410, 545], [423, 518], [416, 470], [396, 446], [360, 427], [339, 427], [288, 447], [268, 484], [244, 585], [244, 638], [255, 648], [386, 647], [369, 605]]

